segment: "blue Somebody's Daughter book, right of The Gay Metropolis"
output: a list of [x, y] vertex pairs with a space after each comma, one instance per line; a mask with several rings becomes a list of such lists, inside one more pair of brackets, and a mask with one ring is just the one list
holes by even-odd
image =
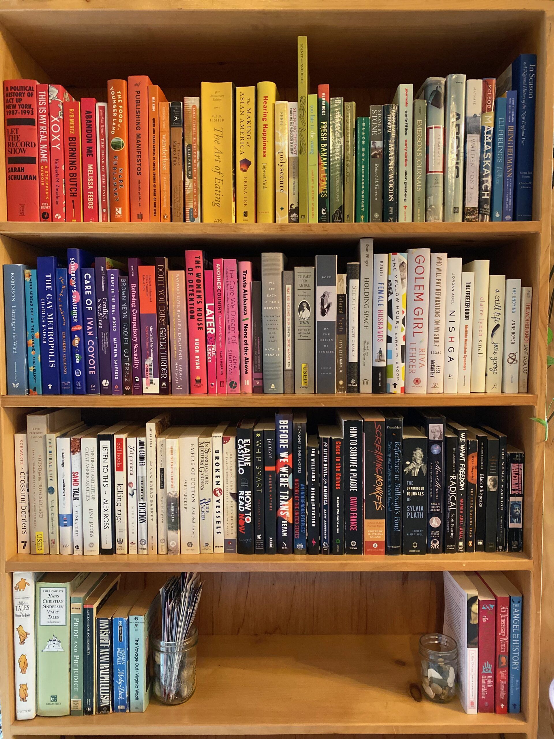
[[71, 325], [71, 357], [73, 390], [75, 395], [86, 394], [86, 357], [84, 354], [83, 330], [83, 267], [92, 265], [92, 254], [83, 249], [67, 250], [67, 273], [69, 279], [69, 321]]

